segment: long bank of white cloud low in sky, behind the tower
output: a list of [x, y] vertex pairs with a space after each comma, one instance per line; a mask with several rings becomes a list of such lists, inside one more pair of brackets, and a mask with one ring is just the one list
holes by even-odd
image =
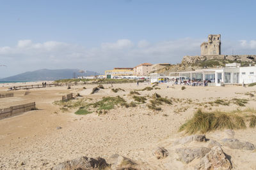
[[[179, 63], [184, 55], [200, 55], [200, 44], [205, 39], [183, 38], [156, 43], [119, 39], [98, 47], [73, 45], [58, 41], [34, 43], [26, 39], [16, 46], [0, 47], [0, 77], [36, 69], [77, 68], [104, 73], [113, 67], [133, 67], [141, 62]], [[223, 54], [255, 54], [255, 40], [223, 41]]]

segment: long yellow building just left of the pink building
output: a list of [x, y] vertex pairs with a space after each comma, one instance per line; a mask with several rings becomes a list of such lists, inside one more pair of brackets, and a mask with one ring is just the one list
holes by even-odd
[[106, 78], [117, 78], [118, 76], [132, 76], [132, 67], [115, 67], [113, 70], [105, 71]]

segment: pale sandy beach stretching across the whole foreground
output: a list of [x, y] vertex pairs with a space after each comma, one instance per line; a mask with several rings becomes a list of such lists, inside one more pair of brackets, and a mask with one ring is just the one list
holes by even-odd
[[[40, 83], [40, 82], [38, 82]], [[15, 83], [18, 85], [18, 83]], [[13, 86], [9, 84], [9, 87]], [[123, 83], [103, 85], [104, 89], [91, 94], [97, 85], [67, 87], [47, 87], [44, 89], [16, 90], [14, 97], [0, 99], [0, 108], [16, 104], [35, 102], [38, 110], [28, 111], [15, 117], [0, 120], [0, 168], [1, 169], [50, 169], [66, 160], [76, 157], [104, 157], [108, 159], [114, 153], [129, 157], [138, 162], [141, 169], [193, 169], [196, 161], [184, 164], [177, 160], [175, 149], [185, 145], [173, 145], [176, 139], [188, 136], [178, 132], [179, 127], [193, 117], [198, 108], [213, 111], [233, 111], [255, 108], [256, 87], [189, 87], [182, 90], [180, 85], [159, 84], [157, 89], [138, 91], [147, 98], [145, 104], [126, 108], [115, 106], [106, 114], [99, 115], [95, 110], [88, 115], [76, 115], [79, 108], [62, 110], [54, 104], [61, 96], [80, 94], [74, 101], [95, 103], [102, 97], [122, 97], [127, 103], [134, 101], [129, 93], [150, 83]], [[85, 87], [86, 89], [84, 89]], [[113, 88], [123, 89], [113, 92]], [[8, 85], [0, 87], [0, 93], [6, 92]], [[172, 104], [161, 105], [161, 111], [147, 107], [149, 97], [157, 93], [172, 100]], [[252, 96], [246, 93], [253, 94]], [[202, 106], [202, 103], [216, 99], [246, 99], [246, 106], [230, 103], [228, 106]], [[201, 105], [200, 105], [201, 103]], [[255, 114], [255, 113], [254, 113]], [[57, 129], [61, 127], [61, 129]], [[256, 145], [256, 128], [235, 129], [232, 138], [248, 141]], [[207, 132], [206, 138], [220, 140], [230, 138], [227, 131]], [[186, 146], [207, 146], [208, 143], [189, 143]], [[169, 156], [156, 159], [152, 150], [156, 146], [166, 148]], [[233, 169], [256, 169], [255, 150], [234, 150], [223, 146], [223, 151], [230, 155]]]

